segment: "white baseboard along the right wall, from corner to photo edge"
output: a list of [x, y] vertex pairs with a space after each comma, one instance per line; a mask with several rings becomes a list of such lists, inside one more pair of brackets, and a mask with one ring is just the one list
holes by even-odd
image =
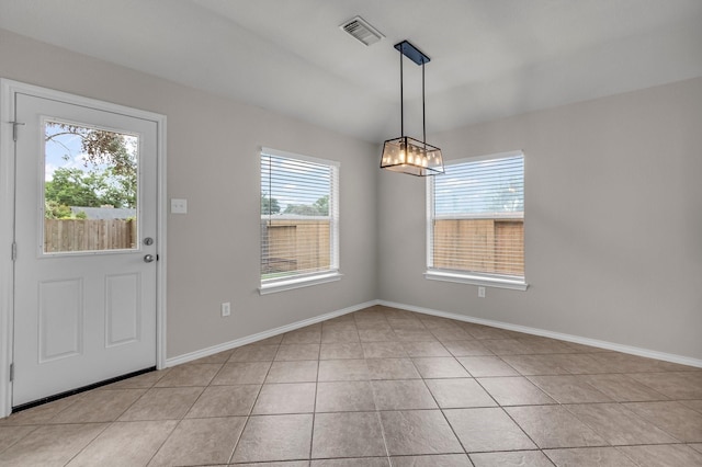
[[472, 316], [457, 315], [448, 311], [434, 310], [431, 308], [416, 307], [412, 305], [398, 304], [395, 301], [378, 300], [378, 305], [386, 307], [399, 308], [407, 311], [420, 312], [423, 315], [438, 316], [441, 318], [455, 319], [456, 321], [473, 322], [476, 324], [491, 326], [494, 328], [507, 329], [509, 331], [524, 332], [526, 334], [541, 335], [544, 338], [558, 339], [562, 341], [574, 342], [577, 344], [590, 345], [599, 349], [627, 353], [631, 355], [644, 356], [647, 358], [656, 358], [665, 362], [678, 363], [680, 365], [689, 365], [702, 368], [702, 360], [692, 358], [683, 355], [657, 352], [648, 349], [635, 348], [631, 345], [618, 344], [614, 342], [600, 341], [598, 339], [582, 338], [579, 335], [565, 334], [562, 332], [547, 331], [545, 329], [529, 328], [526, 326], [510, 324], [502, 321], [494, 321], [491, 319], [474, 318]]

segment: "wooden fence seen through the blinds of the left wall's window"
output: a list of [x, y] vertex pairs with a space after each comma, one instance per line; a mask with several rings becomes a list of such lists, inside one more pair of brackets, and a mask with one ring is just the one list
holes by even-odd
[[262, 274], [329, 267], [329, 219], [265, 219], [261, 229]]

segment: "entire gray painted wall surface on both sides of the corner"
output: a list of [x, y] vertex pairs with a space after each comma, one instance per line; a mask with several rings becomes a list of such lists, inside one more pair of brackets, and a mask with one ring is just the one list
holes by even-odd
[[[168, 116], [169, 357], [381, 298], [702, 358], [702, 78], [434, 135], [525, 153], [531, 287], [478, 299], [422, 277], [424, 182], [377, 146], [1, 30], [0, 76]], [[260, 146], [341, 161], [340, 282], [258, 295]]]

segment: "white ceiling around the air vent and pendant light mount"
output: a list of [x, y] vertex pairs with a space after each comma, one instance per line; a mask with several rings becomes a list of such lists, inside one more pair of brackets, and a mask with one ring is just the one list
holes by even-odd
[[[360, 14], [385, 38], [339, 25]], [[702, 76], [700, 0], [0, 0], [0, 27], [369, 141]], [[405, 121], [421, 136], [421, 71]]]

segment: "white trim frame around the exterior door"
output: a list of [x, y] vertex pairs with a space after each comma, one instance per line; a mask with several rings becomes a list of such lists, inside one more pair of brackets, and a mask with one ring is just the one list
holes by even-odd
[[[167, 241], [167, 171], [166, 171], [166, 115], [113, 104], [90, 98], [26, 84], [20, 81], [0, 78], [0, 218], [10, 221], [0, 223], [0, 418], [8, 417], [12, 410], [12, 381], [10, 364], [13, 362], [14, 334], [14, 264], [11, 248], [14, 240], [14, 140], [12, 122], [14, 121], [14, 94], [16, 92], [43, 99], [57, 100], [75, 105], [83, 105], [105, 112], [114, 112], [156, 123], [157, 138], [157, 200], [156, 235], [156, 367], [166, 367], [166, 241]], [[21, 127], [20, 127], [21, 132]]]

